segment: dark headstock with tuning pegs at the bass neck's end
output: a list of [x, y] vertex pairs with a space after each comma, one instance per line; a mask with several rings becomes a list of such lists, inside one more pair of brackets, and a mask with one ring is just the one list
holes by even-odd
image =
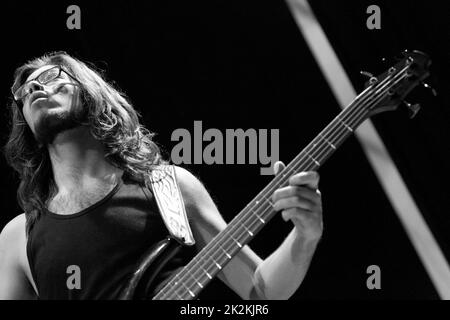
[[404, 99], [418, 85], [429, 87], [423, 80], [430, 74], [430, 65], [431, 60], [425, 53], [405, 50], [402, 52], [402, 58], [379, 76], [363, 73], [370, 76], [364, 92], [373, 96], [373, 101], [368, 103], [369, 116], [396, 110], [402, 102], [414, 116], [420, 106], [409, 104]]

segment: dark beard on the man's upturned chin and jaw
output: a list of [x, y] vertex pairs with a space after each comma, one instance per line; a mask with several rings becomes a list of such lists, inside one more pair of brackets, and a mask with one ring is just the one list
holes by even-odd
[[36, 123], [35, 138], [40, 144], [51, 144], [58, 134], [86, 123], [86, 118], [87, 112], [83, 108], [46, 112]]

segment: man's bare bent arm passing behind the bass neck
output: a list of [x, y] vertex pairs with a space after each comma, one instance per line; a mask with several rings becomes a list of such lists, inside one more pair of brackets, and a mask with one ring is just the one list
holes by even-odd
[[[176, 173], [198, 249], [201, 249], [226, 227], [226, 222], [197, 178], [179, 167]], [[286, 201], [284, 193], [277, 195], [283, 202], [276, 199], [279, 208], [287, 209], [283, 218], [297, 218], [298, 212], [293, 208], [297, 204]], [[305, 237], [299, 230], [300, 227], [294, 228], [264, 261], [250, 247], [244, 246], [218, 274], [219, 278], [243, 299], [289, 298], [300, 286], [318, 242], [317, 237]]]

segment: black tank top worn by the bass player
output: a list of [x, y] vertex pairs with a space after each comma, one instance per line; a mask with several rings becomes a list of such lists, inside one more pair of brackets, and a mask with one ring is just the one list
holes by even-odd
[[[144, 252], [167, 235], [150, 190], [125, 175], [102, 200], [78, 213], [46, 210], [27, 241], [39, 299], [117, 299]], [[153, 293], [193, 254], [192, 247], [181, 250], [158, 274]]]

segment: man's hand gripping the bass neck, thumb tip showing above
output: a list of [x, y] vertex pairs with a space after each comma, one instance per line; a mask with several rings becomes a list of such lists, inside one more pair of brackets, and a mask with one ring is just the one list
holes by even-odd
[[[275, 174], [285, 165], [275, 163]], [[318, 189], [319, 174], [316, 171], [300, 172], [289, 179], [289, 186], [277, 189], [272, 196], [273, 207], [282, 211], [285, 221], [291, 220], [299, 236], [319, 240], [322, 236], [322, 199]]]

